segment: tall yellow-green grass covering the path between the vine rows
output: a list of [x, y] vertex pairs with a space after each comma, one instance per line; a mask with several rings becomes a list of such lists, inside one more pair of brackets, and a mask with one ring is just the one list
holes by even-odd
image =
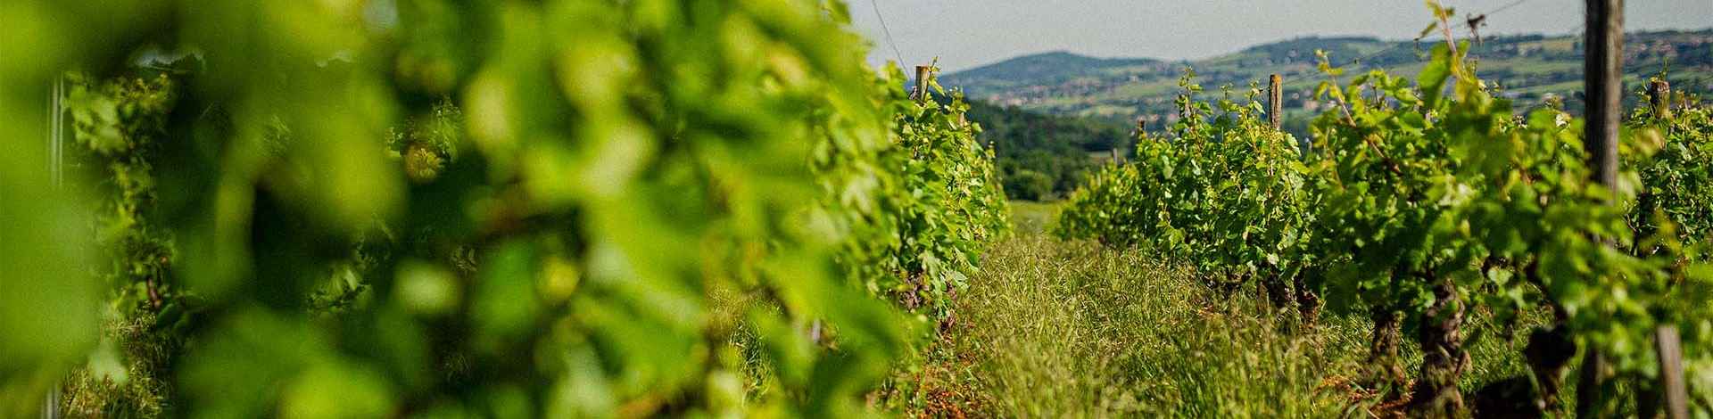
[[[1053, 204], [1014, 202], [997, 243], [956, 303], [956, 322], [898, 381], [904, 416], [935, 417], [1346, 417], [1386, 414], [1364, 371], [1365, 316], [1305, 327], [1252, 292], [1218, 294], [1144, 251], [1059, 241]], [[1525, 371], [1521, 340], [1470, 313], [1475, 388]], [[1405, 332], [1405, 368], [1420, 351]], [[1526, 335], [1526, 333], [1523, 333]], [[1569, 393], [1566, 393], [1569, 395]]]

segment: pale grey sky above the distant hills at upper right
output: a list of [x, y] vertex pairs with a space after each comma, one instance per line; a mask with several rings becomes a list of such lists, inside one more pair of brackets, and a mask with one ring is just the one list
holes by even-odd
[[[1298, 36], [1415, 38], [1430, 15], [1418, 0], [846, 0], [874, 41], [868, 62], [894, 58], [875, 5], [904, 62], [940, 58], [947, 72], [1004, 58], [1072, 51], [1093, 56], [1194, 60]], [[872, 2], [872, 3], [870, 3]], [[1458, 15], [1518, 0], [1444, 0]], [[1583, 22], [1581, 0], [1521, 0], [1489, 15], [1489, 32], [1564, 34]], [[1713, 0], [1629, 0], [1626, 29], [1713, 26]], [[1459, 32], [1459, 36], [1463, 36]]]

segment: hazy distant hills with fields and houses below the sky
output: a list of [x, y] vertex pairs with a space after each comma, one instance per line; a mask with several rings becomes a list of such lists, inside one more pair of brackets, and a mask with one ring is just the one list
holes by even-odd
[[[1497, 36], [1471, 48], [1478, 74], [1499, 86], [1504, 96], [1523, 106], [1537, 104], [1549, 94], [1571, 99], [1581, 89], [1581, 44], [1573, 36]], [[1250, 82], [1264, 82], [1269, 74], [1285, 77], [1286, 120], [1304, 118], [1321, 109], [1312, 89], [1326, 80], [1316, 70], [1314, 51], [1322, 50], [1331, 62], [1350, 72], [1388, 68], [1413, 75], [1427, 60], [1435, 41], [1384, 41], [1376, 38], [1298, 38], [1245, 48], [1237, 53], [1196, 62], [1151, 58], [1095, 58], [1065, 51], [1018, 56], [940, 77], [940, 84], [961, 87], [971, 99], [997, 106], [1089, 116], [1129, 127], [1136, 118], [1170, 121], [1172, 99], [1184, 68], [1194, 68], [1208, 92], [1232, 86], [1238, 92]], [[1362, 58], [1360, 62], [1355, 62]], [[1634, 91], [1646, 75], [1656, 74], [1670, 60], [1670, 80], [1679, 89], [1713, 91], [1713, 29], [1634, 32], [1626, 39], [1626, 80]], [[1298, 121], [1300, 125], [1300, 121]], [[1163, 123], [1151, 123], [1163, 127]]]

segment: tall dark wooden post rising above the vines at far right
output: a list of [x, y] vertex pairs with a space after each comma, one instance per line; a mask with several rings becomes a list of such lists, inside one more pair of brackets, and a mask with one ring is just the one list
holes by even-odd
[[[1583, 38], [1583, 92], [1586, 97], [1586, 125], [1583, 127], [1593, 181], [1617, 188], [1617, 130], [1622, 104], [1624, 68], [1624, 0], [1586, 0], [1586, 32]], [[1581, 383], [1576, 385], [1576, 416], [1597, 417], [1602, 407], [1602, 387], [1607, 369], [1598, 349], [1583, 352]]]

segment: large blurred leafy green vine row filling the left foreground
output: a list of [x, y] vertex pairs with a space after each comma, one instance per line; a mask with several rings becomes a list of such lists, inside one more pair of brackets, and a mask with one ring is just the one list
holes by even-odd
[[1006, 226], [839, 2], [0, 10], [3, 416], [862, 416]]

